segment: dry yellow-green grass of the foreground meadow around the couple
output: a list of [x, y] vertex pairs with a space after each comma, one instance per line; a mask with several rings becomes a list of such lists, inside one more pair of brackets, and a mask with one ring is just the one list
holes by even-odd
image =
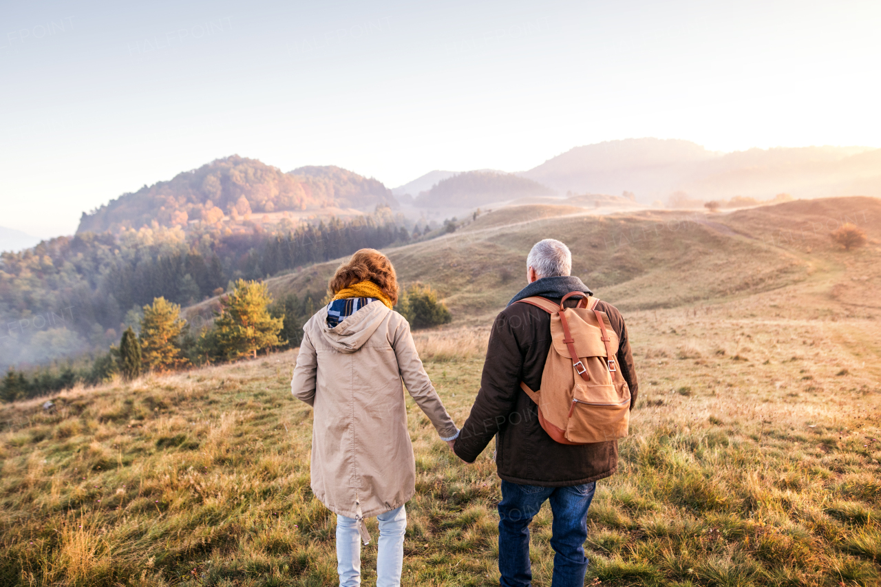
[[[621, 470], [591, 509], [591, 576], [877, 581], [881, 447], [869, 439], [881, 436], [881, 388], [854, 354], [877, 324], [758, 311], [787, 295], [754, 298], [756, 316], [737, 302], [698, 316], [628, 315], [642, 391]], [[459, 422], [486, 335], [416, 333]], [[4, 406], [7, 582], [334, 584], [334, 521], [308, 489], [310, 410], [288, 395], [292, 359], [70, 390], [56, 414], [37, 400]], [[492, 584], [499, 487], [489, 451], [459, 463], [414, 405], [410, 415], [418, 492], [404, 583]], [[548, 584], [548, 512], [533, 530], [536, 584]], [[368, 547], [365, 567], [374, 562]]]

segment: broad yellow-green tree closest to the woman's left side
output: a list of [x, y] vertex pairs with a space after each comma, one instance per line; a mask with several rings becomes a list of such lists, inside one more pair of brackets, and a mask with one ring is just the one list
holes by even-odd
[[266, 286], [239, 279], [233, 293], [220, 298], [222, 308], [214, 321], [218, 344], [228, 360], [257, 356], [257, 351], [278, 346], [284, 318], [273, 318]]

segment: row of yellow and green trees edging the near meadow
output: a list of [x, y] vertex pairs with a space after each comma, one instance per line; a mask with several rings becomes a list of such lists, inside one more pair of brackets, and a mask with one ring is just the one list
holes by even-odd
[[[119, 375], [130, 381], [144, 373], [166, 373], [205, 364], [256, 357], [270, 349], [300, 346], [303, 325], [317, 308], [329, 302], [325, 295], [300, 298], [287, 294], [275, 301], [267, 286], [257, 281], [238, 280], [233, 291], [220, 296], [214, 320], [193, 331], [181, 317], [181, 307], [163, 297], [145, 305], [135, 328], [122, 332], [118, 345], [98, 354], [91, 362], [41, 368], [28, 373], [10, 368], [0, 380], [0, 401], [36, 398], [72, 387], [76, 383], [95, 385]], [[403, 290], [395, 309], [413, 329], [448, 323], [448, 308], [430, 286], [412, 284]]]

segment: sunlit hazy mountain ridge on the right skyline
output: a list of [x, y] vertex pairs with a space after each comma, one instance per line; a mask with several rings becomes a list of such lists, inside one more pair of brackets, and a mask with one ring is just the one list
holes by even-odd
[[691, 141], [628, 138], [574, 147], [519, 173], [561, 192], [621, 193], [666, 200], [677, 190], [702, 199], [881, 196], [881, 149], [777, 147], [713, 152]]

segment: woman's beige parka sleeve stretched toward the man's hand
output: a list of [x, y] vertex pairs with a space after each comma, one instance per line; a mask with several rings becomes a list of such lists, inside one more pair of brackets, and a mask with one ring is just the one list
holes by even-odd
[[422, 360], [419, 359], [416, 344], [410, 333], [410, 323], [406, 320], [401, 320], [401, 324], [397, 327], [392, 348], [395, 349], [398, 372], [411, 398], [416, 401], [419, 409], [425, 412], [428, 420], [432, 421], [434, 429], [441, 435], [442, 440], [454, 440], [459, 434], [459, 429], [449, 417], [447, 408], [441, 403], [440, 396], [434, 390], [426, 369], [422, 366]]

